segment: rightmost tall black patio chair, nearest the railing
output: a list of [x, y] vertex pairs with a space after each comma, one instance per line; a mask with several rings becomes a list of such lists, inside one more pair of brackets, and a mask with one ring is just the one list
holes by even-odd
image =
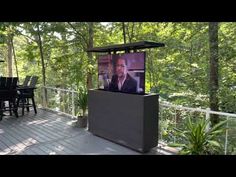
[[[36, 104], [34, 100], [34, 90], [36, 89], [37, 81], [38, 76], [32, 76], [28, 86], [17, 88], [17, 107], [22, 108], [22, 115], [24, 115], [24, 109], [26, 108], [29, 112], [30, 107], [33, 107], [35, 114], [37, 114]], [[30, 103], [30, 99], [32, 103]]]

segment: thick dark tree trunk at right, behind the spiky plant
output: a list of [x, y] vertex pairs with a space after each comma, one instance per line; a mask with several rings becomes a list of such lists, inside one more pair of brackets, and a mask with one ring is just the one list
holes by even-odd
[[[218, 105], [218, 22], [209, 23], [209, 47], [210, 47], [210, 79], [209, 96], [210, 109], [219, 111]], [[211, 114], [212, 125], [219, 122], [219, 116]]]

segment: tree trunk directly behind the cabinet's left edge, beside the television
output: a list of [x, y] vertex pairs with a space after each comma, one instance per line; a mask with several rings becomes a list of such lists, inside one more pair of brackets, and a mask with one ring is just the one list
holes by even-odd
[[[89, 22], [89, 42], [88, 42], [88, 49], [93, 48], [93, 22]], [[87, 52], [89, 65], [91, 65], [93, 62], [93, 54], [92, 52]], [[92, 82], [92, 71], [89, 69], [87, 74], [87, 89], [93, 88], [93, 82]]]

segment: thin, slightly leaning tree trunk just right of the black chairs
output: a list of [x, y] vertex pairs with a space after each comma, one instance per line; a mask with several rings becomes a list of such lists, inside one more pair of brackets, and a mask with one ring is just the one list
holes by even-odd
[[[43, 57], [43, 46], [42, 46], [42, 39], [40, 35], [40, 29], [39, 29], [39, 24], [37, 23], [37, 34], [38, 34], [38, 40], [37, 44], [39, 46], [39, 51], [40, 51], [40, 57], [41, 57], [41, 64], [42, 64], [42, 75], [43, 75], [43, 86], [46, 86], [46, 70], [45, 70], [45, 63], [44, 63], [44, 57]], [[46, 88], [43, 89], [43, 96], [44, 96], [44, 103], [43, 106], [47, 106], [47, 91]]]

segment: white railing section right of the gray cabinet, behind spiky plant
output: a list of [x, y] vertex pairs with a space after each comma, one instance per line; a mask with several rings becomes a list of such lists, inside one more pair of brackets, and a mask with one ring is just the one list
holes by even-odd
[[[230, 153], [235, 153], [234, 151], [236, 151], [236, 148], [234, 147], [236, 144], [236, 114], [211, 111], [209, 108], [190, 108], [164, 102], [160, 102], [159, 105], [159, 139], [161, 141], [166, 143], [180, 143], [179, 141], [181, 140], [178, 140], [177, 137], [173, 135], [172, 130], [174, 127], [181, 127], [184, 129], [183, 122], [188, 116], [209, 119], [211, 114], [216, 114], [220, 119], [228, 120], [224, 135], [224, 154], [228, 154], [229, 151]], [[170, 135], [172, 135], [172, 137]]]

